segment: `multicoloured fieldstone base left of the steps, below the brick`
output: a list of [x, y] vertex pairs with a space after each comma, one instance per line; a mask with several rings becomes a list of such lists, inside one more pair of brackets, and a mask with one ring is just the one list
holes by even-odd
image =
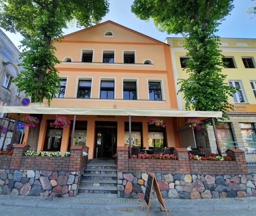
[[73, 197], [80, 178], [80, 171], [0, 169], [0, 194]]

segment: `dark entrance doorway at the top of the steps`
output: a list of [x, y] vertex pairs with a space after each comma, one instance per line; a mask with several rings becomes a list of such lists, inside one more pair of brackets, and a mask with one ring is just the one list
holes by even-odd
[[117, 148], [117, 122], [96, 121], [94, 158], [111, 158]]

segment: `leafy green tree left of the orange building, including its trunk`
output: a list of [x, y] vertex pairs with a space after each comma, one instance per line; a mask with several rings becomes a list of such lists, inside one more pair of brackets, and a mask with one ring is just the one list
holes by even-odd
[[[9, 32], [19, 32], [23, 51], [24, 70], [16, 79], [20, 91], [32, 102], [52, 100], [59, 85], [52, 39], [61, 38], [62, 29], [73, 20], [77, 26], [89, 27], [99, 23], [108, 12], [108, 0], [0, 0], [0, 27]], [[59, 39], [59, 42], [61, 39]], [[32, 114], [33, 115], [33, 114]], [[42, 115], [34, 115], [42, 119]], [[37, 150], [39, 127], [30, 128], [28, 145]]]

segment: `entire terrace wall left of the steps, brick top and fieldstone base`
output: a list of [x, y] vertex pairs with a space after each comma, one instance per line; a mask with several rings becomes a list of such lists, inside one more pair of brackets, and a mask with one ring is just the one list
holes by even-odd
[[0, 194], [73, 197], [78, 193], [87, 147], [72, 146], [70, 157], [24, 156], [28, 145], [15, 145], [13, 155], [0, 155]]

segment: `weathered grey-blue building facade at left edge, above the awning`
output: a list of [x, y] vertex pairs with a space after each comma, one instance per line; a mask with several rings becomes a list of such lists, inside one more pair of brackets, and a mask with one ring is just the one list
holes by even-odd
[[20, 52], [0, 29], [0, 106], [19, 106], [25, 96], [12, 80], [22, 70]]

